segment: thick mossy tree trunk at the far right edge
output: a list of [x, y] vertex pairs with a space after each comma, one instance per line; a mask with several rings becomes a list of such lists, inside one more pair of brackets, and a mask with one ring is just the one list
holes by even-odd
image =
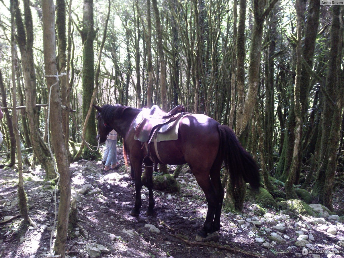
[[[337, 149], [339, 143], [339, 132], [341, 127], [341, 115], [343, 108], [343, 80], [341, 70], [341, 58], [343, 49], [343, 8], [341, 6], [332, 6], [332, 23], [331, 23], [331, 50], [329, 65], [326, 77], [326, 92], [323, 117], [323, 130], [329, 131], [322, 135], [322, 149], [325, 149], [326, 162], [323, 162], [319, 171], [318, 179], [324, 178], [323, 182], [318, 182], [321, 185], [322, 192], [321, 203], [333, 210], [332, 206], [332, 192], [334, 185], [334, 174], [337, 165]], [[325, 116], [329, 117], [326, 118]], [[328, 138], [325, 138], [327, 137]], [[325, 164], [324, 164], [325, 163]], [[325, 166], [326, 165], [326, 166]]]

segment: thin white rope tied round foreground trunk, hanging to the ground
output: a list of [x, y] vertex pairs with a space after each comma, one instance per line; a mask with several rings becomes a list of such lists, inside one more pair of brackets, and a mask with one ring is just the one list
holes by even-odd
[[54, 158], [54, 154], [50, 148], [50, 133], [49, 133], [49, 120], [50, 120], [50, 96], [51, 96], [51, 90], [55, 85], [58, 85], [58, 82], [60, 82], [59, 77], [62, 77], [63, 75], [67, 75], [67, 73], [61, 73], [61, 74], [57, 74], [57, 75], [44, 75], [45, 77], [55, 77], [56, 78], [56, 83], [54, 83], [53, 85], [50, 86], [50, 90], [49, 90], [49, 98], [48, 98], [48, 118], [47, 118], [47, 137], [48, 137], [48, 148], [50, 151], [50, 155], [51, 158], [53, 160], [53, 164], [54, 164], [54, 171], [58, 177], [57, 179], [57, 183], [55, 185], [55, 189], [54, 189], [54, 204], [55, 204], [55, 217], [54, 217], [54, 224], [53, 224], [53, 230], [51, 230], [50, 233], [50, 251], [49, 251], [49, 255], [47, 257], [61, 257], [61, 256], [54, 256], [54, 251], [52, 249], [52, 243], [53, 243], [53, 236], [55, 233], [55, 223], [56, 223], [56, 217], [57, 217], [57, 208], [56, 208], [56, 189], [58, 184], [60, 183], [60, 174], [57, 172], [56, 169], [56, 162], [55, 162], [55, 158]]

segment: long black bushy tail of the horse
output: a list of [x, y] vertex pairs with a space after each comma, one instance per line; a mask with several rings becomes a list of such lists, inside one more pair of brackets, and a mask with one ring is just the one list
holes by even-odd
[[258, 189], [259, 169], [252, 156], [241, 146], [232, 129], [218, 125], [217, 130], [220, 135], [219, 153], [223, 155], [230, 178], [237, 182], [242, 176], [252, 188]]

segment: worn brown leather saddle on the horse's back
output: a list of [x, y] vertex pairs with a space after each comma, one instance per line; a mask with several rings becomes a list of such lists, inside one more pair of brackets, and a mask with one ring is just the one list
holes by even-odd
[[163, 126], [163, 132], [168, 131], [183, 112], [185, 109], [182, 105], [174, 107], [167, 113], [157, 105], [152, 106], [151, 109], [143, 109], [134, 121], [135, 136], [141, 142], [150, 143], [157, 129]]

